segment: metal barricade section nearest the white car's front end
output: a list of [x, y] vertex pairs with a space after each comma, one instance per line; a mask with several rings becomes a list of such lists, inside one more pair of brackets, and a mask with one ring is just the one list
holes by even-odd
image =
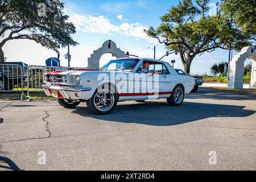
[[44, 84], [44, 74], [59, 70], [84, 69], [77, 67], [46, 67], [30, 65], [27, 68], [27, 97], [30, 98], [30, 92], [42, 92]]

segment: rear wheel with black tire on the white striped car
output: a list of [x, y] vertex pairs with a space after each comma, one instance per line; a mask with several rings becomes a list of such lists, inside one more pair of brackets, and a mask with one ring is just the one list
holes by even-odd
[[171, 94], [171, 97], [167, 98], [167, 102], [170, 106], [180, 106], [184, 101], [184, 88], [181, 85], [177, 85]]

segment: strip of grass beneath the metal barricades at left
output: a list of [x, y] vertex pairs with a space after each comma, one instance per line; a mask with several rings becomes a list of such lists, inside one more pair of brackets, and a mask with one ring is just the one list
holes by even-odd
[[[25, 92], [25, 95], [27, 93]], [[14, 93], [0, 93], [0, 101], [20, 101], [21, 92], [14, 92]], [[30, 92], [30, 97], [32, 100], [35, 101], [54, 101], [56, 98], [47, 97], [44, 92]], [[28, 98], [25, 98], [28, 100]]]

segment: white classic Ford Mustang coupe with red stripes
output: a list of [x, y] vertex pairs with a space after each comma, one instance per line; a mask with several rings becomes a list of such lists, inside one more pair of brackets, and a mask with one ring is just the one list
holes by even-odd
[[47, 96], [57, 98], [66, 108], [81, 102], [95, 114], [112, 112], [119, 101], [167, 98], [171, 106], [180, 106], [195, 79], [179, 75], [167, 62], [147, 58], [122, 58], [109, 61], [101, 69], [55, 71], [44, 75], [42, 85]]

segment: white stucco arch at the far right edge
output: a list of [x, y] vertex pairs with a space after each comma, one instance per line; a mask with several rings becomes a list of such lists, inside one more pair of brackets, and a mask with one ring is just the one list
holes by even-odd
[[235, 55], [232, 61], [230, 61], [228, 88], [243, 88], [243, 69], [247, 58], [251, 60], [250, 88], [256, 89], [256, 49], [254, 46], [243, 47], [241, 52]]

